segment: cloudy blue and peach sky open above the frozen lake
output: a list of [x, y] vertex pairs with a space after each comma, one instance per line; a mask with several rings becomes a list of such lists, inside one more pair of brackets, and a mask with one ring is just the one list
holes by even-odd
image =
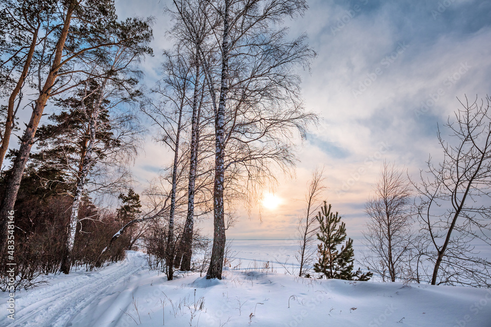
[[[159, 78], [165, 37], [172, 24], [167, 1], [118, 0], [121, 18], [155, 16], [155, 56], [145, 61], [146, 83]], [[416, 176], [430, 153], [441, 156], [436, 139], [459, 107], [457, 98], [486, 97], [491, 86], [491, 1], [482, 0], [310, 0], [304, 17], [289, 22], [292, 37], [307, 32], [318, 53], [302, 72], [308, 110], [322, 119], [299, 144], [295, 178], [279, 175], [279, 205], [253, 208], [227, 231], [235, 239], [289, 239], [302, 209], [306, 183], [324, 165], [325, 198], [345, 218], [348, 235], [359, 238], [363, 205], [383, 160]], [[169, 3], [170, 5], [170, 3]], [[150, 139], [134, 172], [145, 187], [171, 161]], [[271, 198], [271, 197], [270, 197]], [[274, 199], [273, 199], [274, 200]], [[258, 219], [261, 212], [262, 223]], [[202, 222], [210, 230], [211, 222]]]

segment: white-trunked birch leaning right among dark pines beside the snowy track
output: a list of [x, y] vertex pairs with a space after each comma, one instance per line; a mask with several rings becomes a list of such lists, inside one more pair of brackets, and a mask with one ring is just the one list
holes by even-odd
[[[70, 271], [71, 252], [79, 224], [79, 207], [88, 184], [98, 183], [99, 185], [95, 187], [95, 190], [101, 190], [101, 188], [114, 189], [114, 187], [121, 189], [121, 187], [127, 186], [129, 176], [122, 168], [136, 155], [138, 134], [141, 132], [141, 128], [135, 125], [136, 118], [131, 114], [112, 112], [112, 116], [102, 119], [101, 116], [106, 116], [108, 113], [108, 106], [104, 105], [103, 102], [109, 102], [111, 97], [115, 95], [121, 96], [117, 100], [113, 98], [116, 102], [113, 103], [112, 109], [114, 109], [114, 107], [118, 107], [119, 99], [124, 99], [121, 92], [109, 90], [111, 87], [105, 82], [107, 80], [102, 81], [101, 89], [96, 91], [95, 99], [90, 108], [88, 108], [88, 103], [84, 103], [86, 98], [81, 101], [81, 112], [87, 121], [86, 131], [88, 133], [86, 146], [79, 160], [79, 169], [75, 178], [77, 183], [73, 194], [70, 222], [67, 227], [69, 231], [67, 250], [61, 267], [65, 274]], [[129, 98], [131, 99], [131, 96]], [[110, 166], [115, 169], [111, 171], [106, 169]], [[113, 174], [109, 174], [110, 172]], [[109, 177], [111, 180], [109, 182], [97, 180], [98, 176]]]

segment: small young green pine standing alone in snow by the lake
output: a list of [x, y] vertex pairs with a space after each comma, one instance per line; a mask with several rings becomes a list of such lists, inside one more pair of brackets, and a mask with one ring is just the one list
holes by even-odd
[[317, 233], [317, 238], [322, 242], [318, 245], [319, 261], [314, 265], [316, 273], [322, 273], [327, 278], [337, 278], [345, 280], [369, 280], [373, 275], [371, 272], [363, 274], [358, 268], [353, 272], [353, 262], [355, 261], [355, 253], [353, 252], [353, 239], [348, 238], [348, 241], [341, 246], [338, 246], [346, 240], [346, 226], [341, 222], [341, 217], [338, 212], [331, 212], [331, 205], [327, 206], [324, 201], [324, 206], [316, 216], [320, 225], [320, 233]]

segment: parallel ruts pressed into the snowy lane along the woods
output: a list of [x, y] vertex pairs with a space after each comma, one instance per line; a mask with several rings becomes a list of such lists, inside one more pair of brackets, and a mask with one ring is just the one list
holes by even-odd
[[[71, 283], [71, 287], [63, 288], [64, 283], [60, 283], [59, 292], [55, 294], [49, 293], [45, 289], [39, 290], [39, 294], [28, 294], [28, 299], [32, 299], [22, 309], [16, 311], [16, 319], [9, 327], [27, 327], [27, 326], [43, 326], [43, 327], [62, 327], [70, 326], [70, 321], [77, 315], [85, 306], [89, 305], [92, 300], [103, 293], [108, 287], [116, 285], [136, 274], [144, 267], [144, 259], [142, 256], [130, 255], [123, 265], [114, 266], [114, 272], [107, 275], [92, 276], [90, 278], [81, 278], [80, 281]], [[111, 267], [112, 268], [112, 267]], [[104, 270], [100, 271], [104, 274]], [[70, 284], [68, 282], [68, 284]], [[47, 298], [39, 300], [40, 297], [48, 295]], [[24, 314], [25, 313], [25, 314]], [[0, 321], [0, 325], [4, 326], [7, 318]]]

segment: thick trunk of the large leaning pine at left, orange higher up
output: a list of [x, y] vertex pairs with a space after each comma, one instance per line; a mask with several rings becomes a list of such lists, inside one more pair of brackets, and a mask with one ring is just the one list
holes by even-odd
[[24, 131], [19, 152], [17, 154], [17, 157], [15, 158], [11, 175], [9, 176], [5, 186], [5, 193], [3, 194], [0, 206], [0, 253], [3, 253], [3, 251], [5, 250], [5, 245], [7, 242], [7, 217], [9, 216], [8, 212], [14, 209], [14, 204], [17, 199], [17, 192], [19, 192], [19, 187], [21, 185], [22, 175], [24, 174], [24, 169], [26, 168], [27, 160], [29, 159], [29, 153], [34, 143], [34, 136], [36, 134], [39, 121], [41, 120], [41, 117], [43, 115], [46, 102], [51, 96], [51, 88], [55, 84], [56, 78], [58, 76], [61, 56], [63, 54], [63, 48], [65, 47], [65, 41], [68, 35], [68, 29], [70, 27], [72, 13], [75, 5], [76, 1], [71, 1], [67, 9], [63, 28], [61, 29], [60, 37], [58, 43], [56, 44], [55, 57], [51, 66], [52, 68], [46, 78], [43, 89], [41, 90], [38, 99], [34, 101], [35, 105], [32, 110], [31, 118], [29, 120], [29, 123], [27, 124], [26, 130]]

